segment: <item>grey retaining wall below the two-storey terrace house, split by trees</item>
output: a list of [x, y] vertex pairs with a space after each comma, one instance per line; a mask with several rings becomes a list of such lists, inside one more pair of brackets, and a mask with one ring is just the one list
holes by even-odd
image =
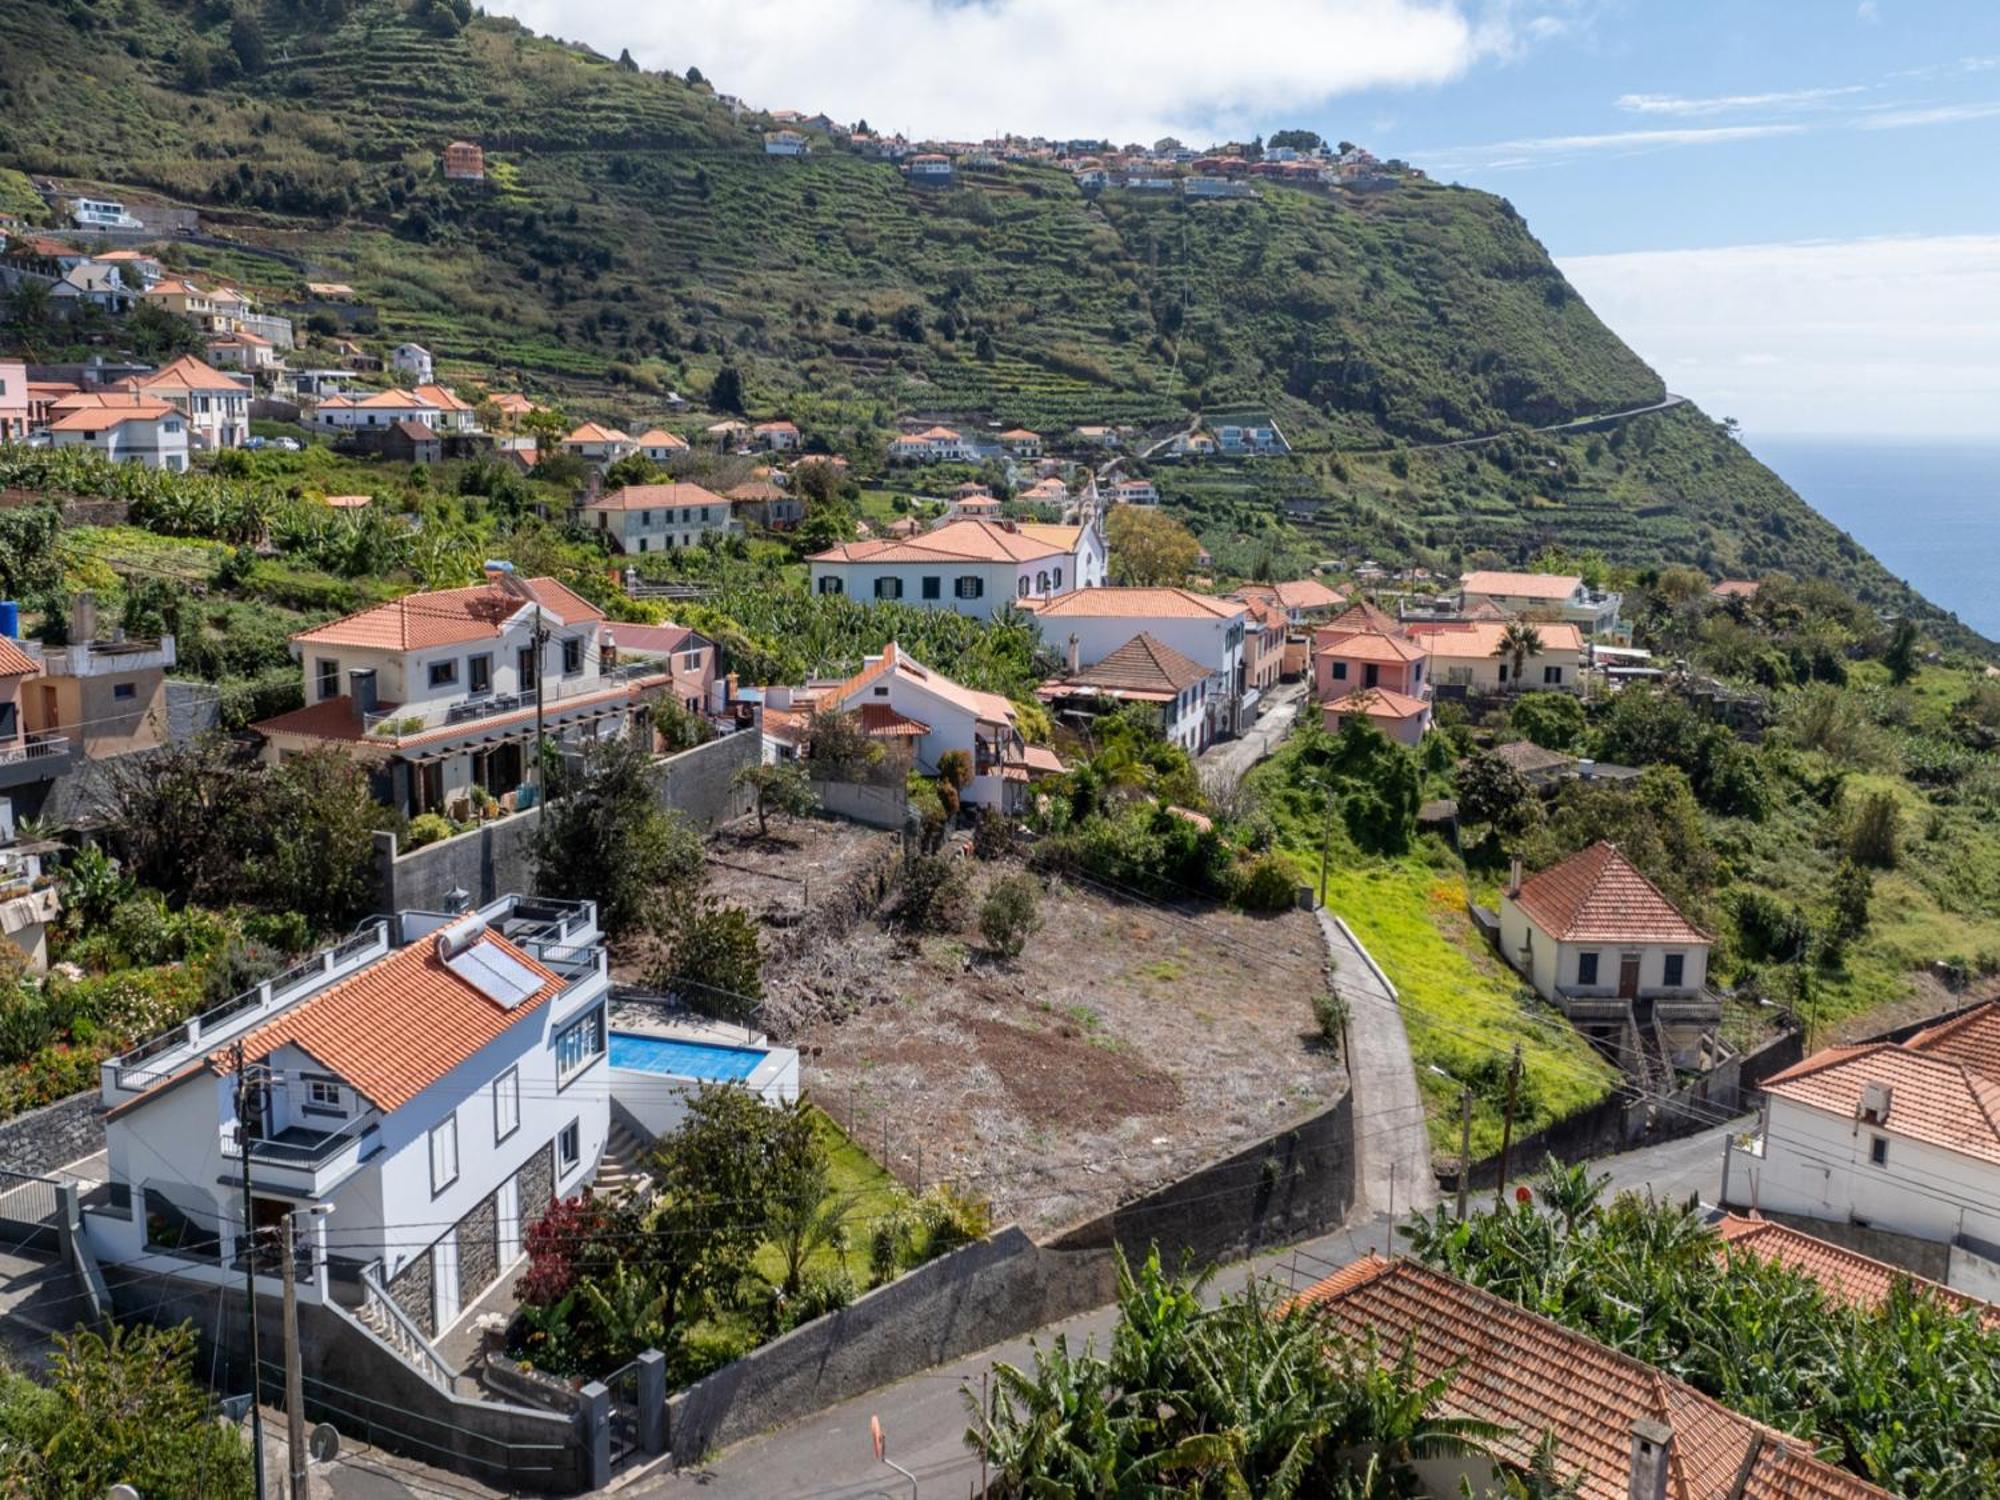
[[[740, 818], [750, 810], [750, 798], [730, 780], [760, 754], [758, 736], [740, 732], [656, 762], [652, 780], [660, 806], [698, 828]], [[376, 910], [450, 910], [446, 892], [454, 888], [470, 892], [474, 906], [510, 890], [534, 890], [534, 834], [540, 822], [542, 810], [528, 808], [408, 852], [396, 848], [394, 834], [376, 834]]]

